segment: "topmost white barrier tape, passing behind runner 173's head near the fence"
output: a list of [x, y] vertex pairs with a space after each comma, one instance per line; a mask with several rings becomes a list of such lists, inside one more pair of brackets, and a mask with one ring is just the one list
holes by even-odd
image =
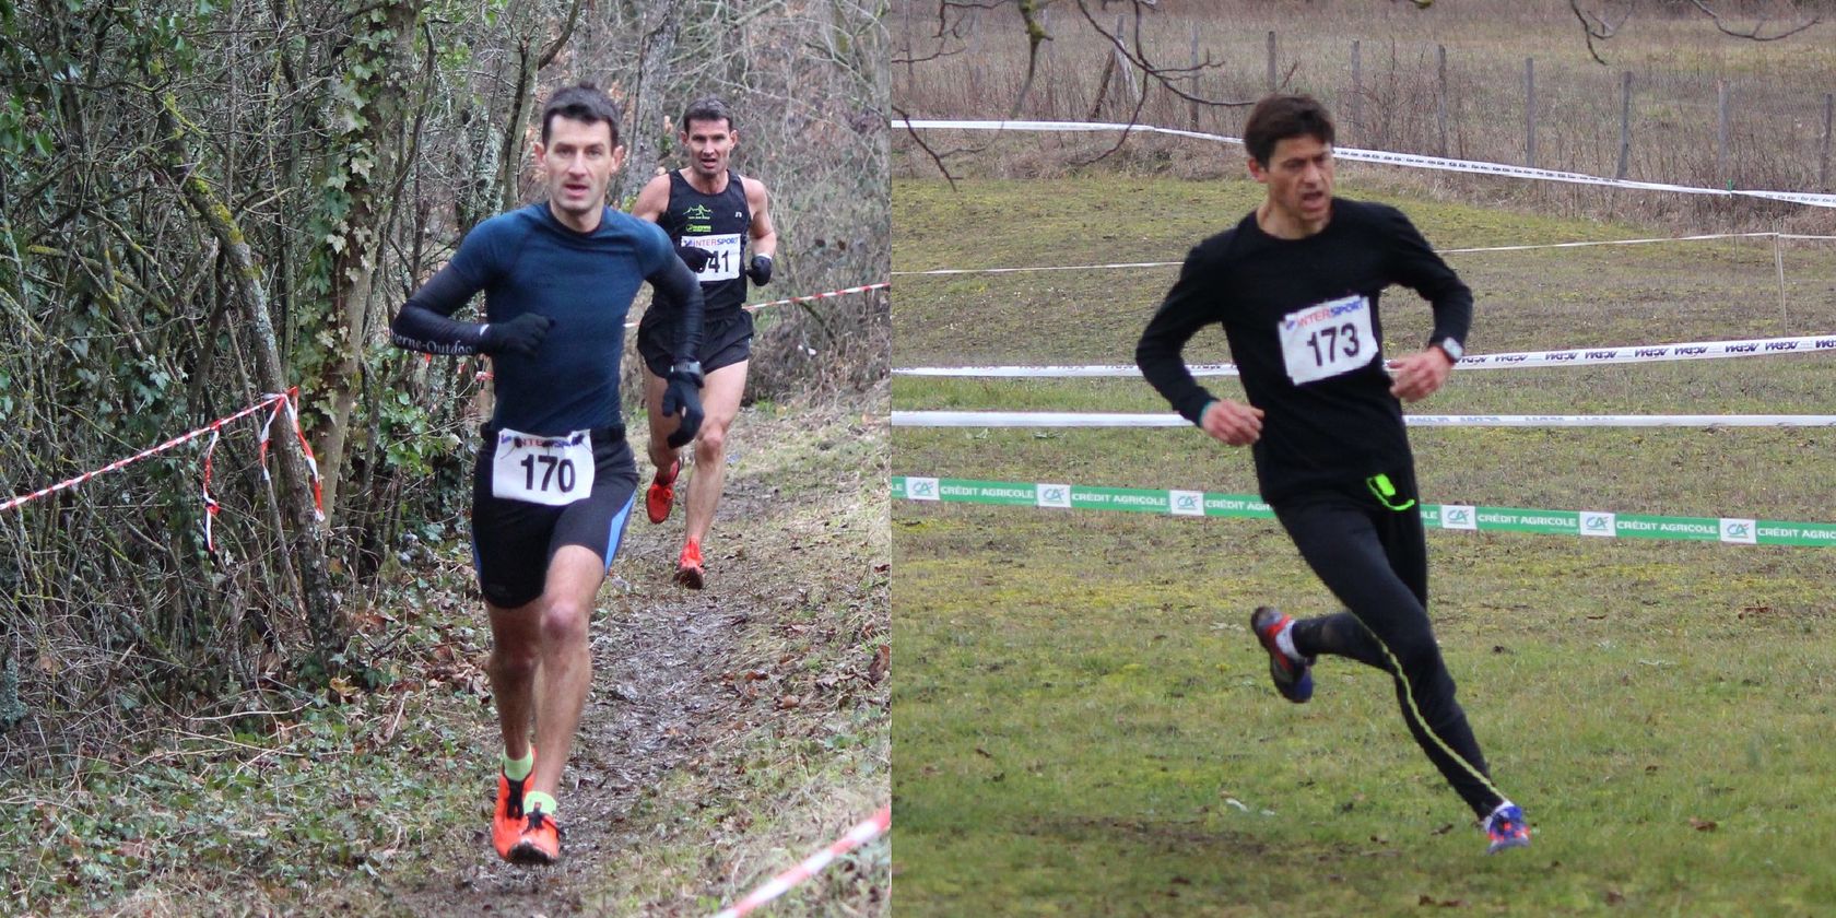
[[[1195, 138], [1212, 140], [1221, 143], [1241, 145], [1241, 138], [1230, 138], [1225, 134], [1204, 134], [1199, 130], [1177, 130], [1153, 125], [1118, 125], [1118, 123], [1083, 123], [1083, 121], [938, 121], [938, 119], [896, 119], [892, 127], [903, 130], [1047, 130], [1047, 132], [1102, 132], [1102, 130], [1131, 130], [1138, 134], [1168, 134], [1175, 138]], [[1443, 173], [1482, 173], [1482, 174], [1502, 174], [1513, 178], [1535, 178], [1540, 182], [1566, 182], [1575, 185], [1605, 185], [1605, 187], [1623, 187], [1636, 191], [1673, 191], [1682, 195], [1713, 195], [1713, 196], [1746, 196], [1746, 198], [1766, 198], [1783, 200], [1788, 204], [1807, 204], [1812, 207], [1836, 207], [1836, 195], [1814, 195], [1805, 191], [1757, 191], [1757, 189], [1720, 189], [1720, 187], [1693, 187], [1693, 185], [1671, 185], [1663, 182], [1632, 182], [1627, 178], [1601, 178], [1583, 173], [1559, 173], [1553, 169], [1535, 169], [1528, 165], [1507, 165], [1507, 163], [1489, 163], [1476, 160], [1447, 160], [1441, 156], [1419, 156], [1414, 152], [1386, 152], [1386, 151], [1360, 151], [1355, 147], [1335, 147], [1333, 156], [1349, 162], [1368, 162], [1368, 163], [1388, 163], [1388, 165], [1406, 165], [1414, 169], [1436, 169]]]

